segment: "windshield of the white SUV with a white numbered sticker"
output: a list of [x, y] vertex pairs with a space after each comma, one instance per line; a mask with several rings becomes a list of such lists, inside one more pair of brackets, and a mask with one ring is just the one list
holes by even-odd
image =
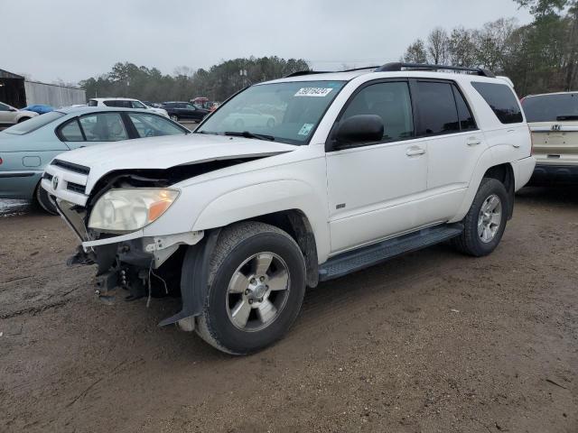
[[282, 143], [308, 143], [345, 81], [256, 85], [220, 106], [195, 133], [270, 135]]

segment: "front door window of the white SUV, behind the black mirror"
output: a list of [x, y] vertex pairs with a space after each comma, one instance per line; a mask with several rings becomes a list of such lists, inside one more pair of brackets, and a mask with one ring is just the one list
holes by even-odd
[[414, 136], [409, 87], [405, 81], [386, 82], [362, 88], [350, 100], [340, 121], [353, 115], [378, 115], [384, 124], [383, 142], [406, 140]]

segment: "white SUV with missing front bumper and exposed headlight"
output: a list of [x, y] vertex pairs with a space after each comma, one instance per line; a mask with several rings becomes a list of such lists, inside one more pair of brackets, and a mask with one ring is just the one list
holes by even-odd
[[[530, 133], [507, 80], [439, 69], [296, 73], [194, 134], [66, 152], [42, 187], [82, 244], [70, 263], [98, 264], [100, 296], [180, 291], [161, 325], [247, 354], [319, 281], [446, 240], [491, 253], [534, 170]], [[246, 108], [264, 122], [231, 121]]]

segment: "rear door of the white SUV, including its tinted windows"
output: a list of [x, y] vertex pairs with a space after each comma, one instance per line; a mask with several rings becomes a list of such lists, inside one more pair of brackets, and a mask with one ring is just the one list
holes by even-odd
[[429, 152], [427, 196], [431, 223], [455, 216], [481, 153], [487, 149], [470, 106], [452, 81], [412, 80], [418, 135]]

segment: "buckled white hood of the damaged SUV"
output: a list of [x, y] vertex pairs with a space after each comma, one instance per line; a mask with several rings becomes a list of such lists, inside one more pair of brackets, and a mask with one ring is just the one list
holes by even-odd
[[98, 144], [66, 152], [61, 161], [89, 167], [89, 183], [114, 170], [168, 169], [205, 161], [271, 156], [297, 146], [244, 137], [187, 134]]

